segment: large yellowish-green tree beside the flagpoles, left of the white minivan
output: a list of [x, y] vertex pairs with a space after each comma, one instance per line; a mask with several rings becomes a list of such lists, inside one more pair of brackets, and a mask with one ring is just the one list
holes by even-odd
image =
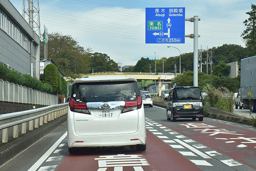
[[[48, 35], [48, 58], [52, 58], [66, 76], [75, 77], [75, 73], [90, 71], [91, 49], [84, 49], [70, 35], [54, 32]], [[41, 58], [44, 58], [44, 44], [40, 44]]]

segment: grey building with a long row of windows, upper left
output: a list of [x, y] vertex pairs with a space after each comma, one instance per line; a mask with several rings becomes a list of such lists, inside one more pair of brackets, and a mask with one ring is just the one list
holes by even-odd
[[0, 62], [39, 79], [40, 38], [9, 0], [0, 0]]

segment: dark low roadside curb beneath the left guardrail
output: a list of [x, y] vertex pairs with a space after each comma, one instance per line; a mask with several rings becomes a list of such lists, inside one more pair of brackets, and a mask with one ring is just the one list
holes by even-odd
[[67, 114], [0, 145], [0, 166], [67, 121]]

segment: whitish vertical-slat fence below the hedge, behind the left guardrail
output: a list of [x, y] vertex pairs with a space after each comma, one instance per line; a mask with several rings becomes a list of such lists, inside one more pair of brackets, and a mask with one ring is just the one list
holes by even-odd
[[58, 104], [58, 96], [0, 79], [0, 101], [53, 105]]

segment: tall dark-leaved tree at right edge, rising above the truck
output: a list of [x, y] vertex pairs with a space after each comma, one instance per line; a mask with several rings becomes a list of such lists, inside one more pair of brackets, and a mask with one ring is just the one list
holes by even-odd
[[246, 12], [249, 15], [248, 19], [244, 20], [246, 29], [241, 34], [246, 41], [246, 46], [249, 50], [249, 55], [256, 53], [256, 5], [251, 4], [251, 11]]

